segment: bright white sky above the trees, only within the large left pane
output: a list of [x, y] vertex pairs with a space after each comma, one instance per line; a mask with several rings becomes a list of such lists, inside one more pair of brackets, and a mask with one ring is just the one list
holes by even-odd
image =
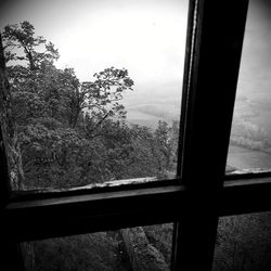
[[57, 67], [74, 67], [81, 81], [124, 67], [134, 80], [134, 101], [143, 92], [180, 96], [188, 0], [10, 0], [2, 7], [1, 28], [29, 21], [59, 49]]

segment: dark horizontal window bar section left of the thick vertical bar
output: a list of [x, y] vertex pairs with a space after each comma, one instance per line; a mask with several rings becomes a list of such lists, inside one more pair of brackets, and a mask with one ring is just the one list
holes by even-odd
[[[178, 220], [180, 185], [10, 203], [2, 212], [14, 241], [64, 236]], [[159, 222], [157, 222], [159, 221]]]

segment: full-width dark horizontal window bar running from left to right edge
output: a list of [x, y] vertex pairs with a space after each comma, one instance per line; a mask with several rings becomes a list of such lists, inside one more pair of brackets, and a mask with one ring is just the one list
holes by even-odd
[[270, 194], [271, 178], [225, 182], [215, 194], [184, 185], [133, 189], [14, 202], [2, 211], [1, 221], [15, 241], [36, 240], [180, 221], [192, 211], [189, 206], [210, 198], [216, 202], [206, 208], [215, 208], [218, 216], [271, 210]]

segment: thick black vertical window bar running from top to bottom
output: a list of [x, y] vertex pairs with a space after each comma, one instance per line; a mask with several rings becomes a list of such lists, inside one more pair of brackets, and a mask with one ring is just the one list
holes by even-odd
[[176, 225], [173, 270], [211, 270], [247, 5], [198, 0], [180, 169], [190, 199]]

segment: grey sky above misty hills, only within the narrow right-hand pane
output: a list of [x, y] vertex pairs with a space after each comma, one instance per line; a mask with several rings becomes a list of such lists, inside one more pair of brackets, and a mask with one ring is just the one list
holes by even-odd
[[249, 2], [237, 94], [271, 105], [271, 1]]

